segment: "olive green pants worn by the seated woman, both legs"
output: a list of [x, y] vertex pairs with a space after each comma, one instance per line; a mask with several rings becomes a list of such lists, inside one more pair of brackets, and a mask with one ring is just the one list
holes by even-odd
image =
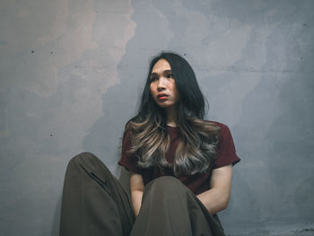
[[92, 153], [69, 162], [62, 196], [61, 236], [224, 235], [218, 218], [179, 179], [149, 182], [135, 217], [130, 195]]

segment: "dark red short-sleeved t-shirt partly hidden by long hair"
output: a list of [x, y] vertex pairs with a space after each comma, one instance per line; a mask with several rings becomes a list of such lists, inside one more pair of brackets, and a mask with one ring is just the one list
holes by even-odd
[[[195, 174], [192, 176], [182, 176], [178, 179], [186, 185], [195, 195], [198, 195], [206, 190], [208, 190], [212, 170], [225, 165], [234, 165], [240, 162], [240, 158], [236, 154], [236, 150], [233, 144], [233, 139], [229, 127], [223, 125], [222, 123], [211, 121], [221, 128], [221, 138], [219, 143], [216, 145], [216, 158], [214, 163], [208, 168], [205, 173]], [[174, 162], [174, 155], [178, 146], [178, 130], [177, 127], [167, 127], [170, 134], [170, 149], [166, 153], [166, 159], [168, 162]], [[119, 165], [124, 166], [126, 170], [131, 170], [135, 173], [141, 174], [144, 179], [144, 185], [153, 179], [161, 177], [163, 175], [173, 176], [172, 169], [166, 169], [161, 171], [158, 167], [153, 167], [149, 169], [143, 169], [137, 166], [138, 158], [129, 154], [126, 151], [131, 147], [131, 139], [129, 133], [126, 132], [122, 140], [122, 156]]]

